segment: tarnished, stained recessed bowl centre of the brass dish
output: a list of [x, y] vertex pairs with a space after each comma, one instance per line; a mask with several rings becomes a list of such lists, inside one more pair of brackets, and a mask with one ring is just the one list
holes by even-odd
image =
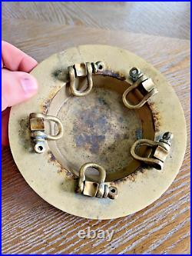
[[[48, 105], [48, 113], [58, 116], [65, 127], [65, 136], [56, 145], [48, 141], [49, 148], [75, 176], [88, 161], [104, 166], [106, 181], [126, 178], [141, 166], [130, 148], [142, 136], [154, 140], [153, 116], [147, 105], [135, 111], [124, 106], [127, 85], [121, 78], [95, 75], [90, 94], [71, 97], [70, 89], [63, 87]], [[137, 103], [142, 95], [130, 93], [129, 98]], [[141, 154], [144, 151], [141, 148]]]

